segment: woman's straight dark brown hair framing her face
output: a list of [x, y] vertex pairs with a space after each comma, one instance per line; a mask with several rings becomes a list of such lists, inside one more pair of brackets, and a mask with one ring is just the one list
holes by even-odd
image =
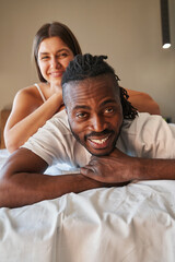
[[38, 49], [40, 43], [49, 37], [58, 36], [61, 40], [70, 48], [74, 56], [82, 53], [79, 41], [77, 40], [73, 33], [69, 29], [69, 27], [59, 22], [52, 22], [44, 24], [35, 35], [33, 43], [33, 53], [35, 58], [35, 64], [38, 73], [38, 78], [42, 82], [46, 82], [40, 73], [40, 69], [38, 67]]

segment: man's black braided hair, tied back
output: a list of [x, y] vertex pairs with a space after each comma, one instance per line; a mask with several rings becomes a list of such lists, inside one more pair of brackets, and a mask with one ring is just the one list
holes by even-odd
[[102, 74], [112, 74], [115, 76], [116, 87], [119, 88], [124, 119], [132, 120], [138, 115], [137, 109], [128, 100], [127, 91], [118, 85], [119, 78], [115, 74], [115, 70], [104, 59], [107, 59], [107, 56], [77, 55], [62, 75], [62, 94], [65, 96], [65, 84], [69, 82], [82, 81]]

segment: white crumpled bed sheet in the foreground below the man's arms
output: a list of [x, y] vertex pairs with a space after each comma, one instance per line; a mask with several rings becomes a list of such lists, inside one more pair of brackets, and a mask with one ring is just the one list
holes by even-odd
[[1, 262], [174, 262], [175, 181], [0, 209]]

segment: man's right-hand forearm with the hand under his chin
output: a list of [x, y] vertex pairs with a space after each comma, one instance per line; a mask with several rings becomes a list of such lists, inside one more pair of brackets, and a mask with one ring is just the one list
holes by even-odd
[[115, 148], [109, 156], [92, 156], [81, 174], [101, 182], [175, 179], [175, 159], [130, 157]]

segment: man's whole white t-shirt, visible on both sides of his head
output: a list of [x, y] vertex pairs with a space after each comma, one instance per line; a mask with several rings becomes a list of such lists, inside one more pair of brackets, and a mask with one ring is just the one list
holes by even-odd
[[[67, 163], [79, 168], [91, 158], [72, 135], [66, 110], [49, 119], [22, 147], [40, 156], [49, 166]], [[175, 124], [167, 124], [161, 116], [139, 114], [135, 120], [124, 120], [116, 147], [130, 156], [175, 158]]]

